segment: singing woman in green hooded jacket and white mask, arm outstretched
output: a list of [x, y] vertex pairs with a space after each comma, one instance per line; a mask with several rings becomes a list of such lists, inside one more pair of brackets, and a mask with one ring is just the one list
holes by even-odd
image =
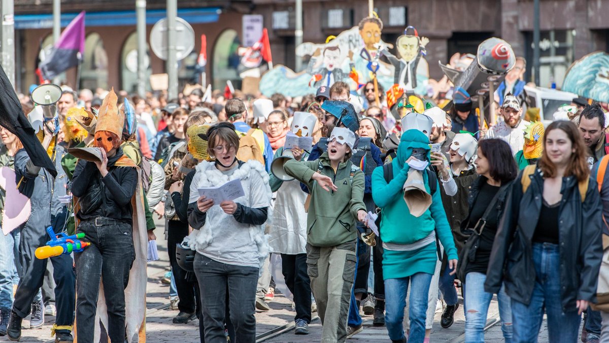
[[349, 161], [355, 134], [334, 128], [328, 151], [315, 161], [286, 162], [286, 173], [311, 190], [307, 215], [307, 272], [322, 320], [322, 342], [347, 340], [347, 315], [356, 263], [356, 220], [364, 222], [364, 173]]

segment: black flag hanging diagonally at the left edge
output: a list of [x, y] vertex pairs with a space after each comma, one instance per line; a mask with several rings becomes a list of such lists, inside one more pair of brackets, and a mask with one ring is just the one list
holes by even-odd
[[53, 176], [57, 176], [57, 170], [49, 155], [44, 150], [36, 133], [23, 113], [19, 98], [10, 84], [9, 78], [0, 65], [0, 126], [9, 130], [21, 140], [21, 144], [27, 151], [32, 163], [37, 167], [45, 168]]

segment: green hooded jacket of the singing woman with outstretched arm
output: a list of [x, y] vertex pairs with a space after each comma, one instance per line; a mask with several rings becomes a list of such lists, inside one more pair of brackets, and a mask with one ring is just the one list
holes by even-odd
[[[338, 188], [326, 191], [312, 179], [322, 164], [322, 175], [333, 179]], [[351, 161], [342, 162], [334, 173], [328, 153], [314, 161], [290, 160], [284, 165], [286, 173], [303, 182], [311, 190], [307, 215], [307, 242], [315, 247], [333, 247], [357, 239], [357, 211], [364, 205], [364, 172], [355, 167], [351, 177]]]

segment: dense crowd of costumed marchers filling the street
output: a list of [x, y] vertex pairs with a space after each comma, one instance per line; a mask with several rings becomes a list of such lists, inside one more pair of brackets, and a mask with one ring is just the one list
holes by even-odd
[[[32, 204], [0, 234], [0, 336], [18, 341], [25, 317], [37, 328], [51, 315], [55, 342], [130, 340], [157, 215], [172, 321], [198, 320], [201, 342], [254, 342], [255, 312], [272, 311], [280, 284], [294, 333], [317, 312], [322, 342], [361, 332], [362, 316], [392, 342], [429, 342], [438, 310], [443, 328], [462, 310], [465, 341], [484, 342], [495, 295], [506, 342], [537, 341], [544, 313], [551, 342], [575, 342], [582, 314], [582, 341], [609, 342], [603, 107], [575, 99], [576, 113], [544, 126], [516, 88], [504, 85], [488, 125], [462, 88], [445, 111], [373, 82], [301, 99], [63, 87], [58, 121], [37, 134], [57, 176], [0, 128], [0, 166]], [[201, 195], [231, 181], [236, 198]], [[91, 245], [37, 259], [47, 226]]]

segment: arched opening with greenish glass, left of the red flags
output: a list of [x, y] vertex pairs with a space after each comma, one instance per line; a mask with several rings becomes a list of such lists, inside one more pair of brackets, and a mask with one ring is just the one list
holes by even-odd
[[214, 89], [224, 89], [227, 80], [233, 82], [235, 88], [240, 87], [238, 48], [239, 36], [233, 29], [225, 30], [216, 39], [212, 74]]

